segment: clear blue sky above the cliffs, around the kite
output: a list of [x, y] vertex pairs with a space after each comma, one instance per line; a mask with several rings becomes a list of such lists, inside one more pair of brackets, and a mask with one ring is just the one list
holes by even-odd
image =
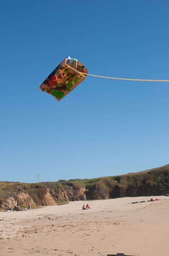
[[169, 2], [2, 1], [0, 180], [125, 174], [169, 163], [169, 83], [39, 85], [67, 56], [91, 74], [169, 79]]

